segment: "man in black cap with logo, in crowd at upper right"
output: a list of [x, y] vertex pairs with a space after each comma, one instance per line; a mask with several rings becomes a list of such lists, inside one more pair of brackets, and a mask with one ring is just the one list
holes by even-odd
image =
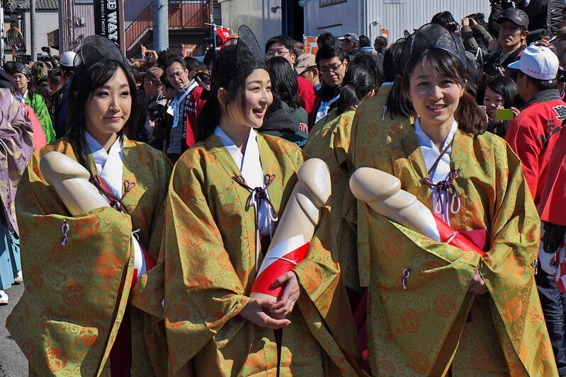
[[[521, 9], [505, 9], [497, 23], [499, 23], [497, 42], [502, 48], [494, 52], [485, 62], [484, 71], [486, 74], [497, 74], [497, 69], [493, 69], [493, 67], [501, 67], [504, 71], [509, 64], [519, 59], [525, 48], [525, 39], [528, 35], [528, 16]], [[515, 79], [514, 74], [514, 72], [510, 72], [512, 79]]]

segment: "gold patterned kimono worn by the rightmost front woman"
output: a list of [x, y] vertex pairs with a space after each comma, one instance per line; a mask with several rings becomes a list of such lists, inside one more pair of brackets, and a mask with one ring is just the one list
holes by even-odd
[[[366, 109], [364, 116], [378, 117], [379, 110]], [[386, 125], [377, 134], [357, 134], [375, 147], [357, 151], [356, 166], [395, 175], [403, 190], [431, 208], [431, 189], [419, 182], [427, 173], [412, 126]], [[460, 168], [454, 183], [461, 202], [451, 226], [486, 230], [482, 257], [358, 206], [358, 226], [368, 229], [358, 248], [369, 258], [372, 374], [441, 376], [451, 366], [453, 376], [556, 376], [533, 277], [540, 221], [519, 158], [493, 134], [472, 137], [458, 129], [451, 168]], [[476, 267], [488, 289], [480, 296], [467, 293]]]

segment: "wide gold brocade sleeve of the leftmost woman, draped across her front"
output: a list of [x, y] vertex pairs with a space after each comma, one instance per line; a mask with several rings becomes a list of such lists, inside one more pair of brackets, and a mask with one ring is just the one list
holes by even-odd
[[6, 327], [36, 373], [95, 376], [128, 301], [132, 221], [111, 207], [62, 215], [62, 202], [38, 173], [39, 160], [35, 153], [16, 197], [28, 280]]

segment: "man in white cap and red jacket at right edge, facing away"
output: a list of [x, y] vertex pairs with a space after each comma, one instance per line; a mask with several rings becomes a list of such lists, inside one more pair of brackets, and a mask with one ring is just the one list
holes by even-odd
[[[560, 99], [560, 93], [556, 89], [558, 58], [548, 47], [532, 45], [526, 47], [521, 59], [509, 64], [509, 68], [518, 70], [517, 88], [526, 104], [509, 124], [505, 139], [521, 158], [528, 188], [538, 206], [550, 155], [558, 139], [562, 121], [566, 119], [566, 103]], [[552, 233], [547, 228], [545, 232], [547, 237]], [[545, 243], [543, 236], [543, 245]], [[557, 290], [555, 266], [550, 265], [548, 253], [541, 250], [539, 248], [536, 284], [558, 371], [560, 376], [564, 376], [566, 306], [562, 303], [566, 303], [566, 296]]]

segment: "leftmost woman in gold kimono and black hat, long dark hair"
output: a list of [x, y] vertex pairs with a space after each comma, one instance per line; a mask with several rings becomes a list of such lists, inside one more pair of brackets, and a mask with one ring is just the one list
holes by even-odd
[[[152, 337], [149, 315], [129, 301], [132, 282], [143, 271], [135, 267], [140, 258], [134, 243], [157, 260], [171, 164], [126, 136], [136, 120], [127, 64], [106, 38], [84, 40], [70, 88], [67, 136], [33, 154], [18, 187], [28, 280], [6, 326], [32, 376], [166, 373], [151, 352], [163, 352], [165, 343]], [[40, 170], [50, 151], [84, 166], [111, 206], [72, 216]]]

